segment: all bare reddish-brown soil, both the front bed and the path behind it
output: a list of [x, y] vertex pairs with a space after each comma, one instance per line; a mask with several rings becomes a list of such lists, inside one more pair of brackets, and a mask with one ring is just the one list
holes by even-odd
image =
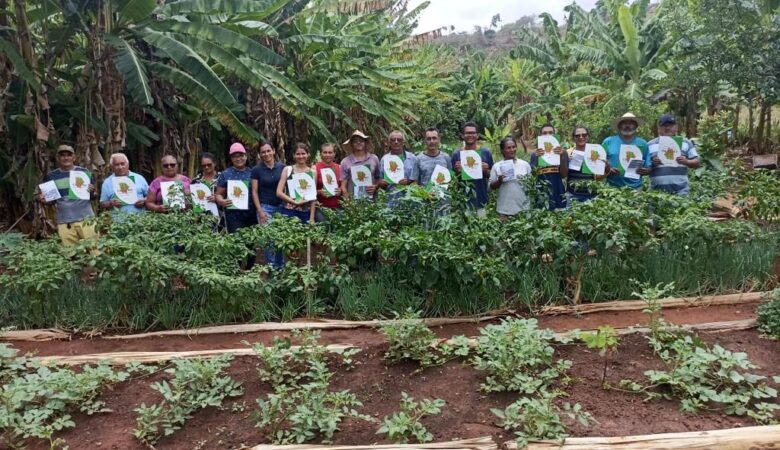
[[[665, 310], [664, 316], [675, 323], [702, 323], [737, 320], [754, 317], [755, 305], [718, 306]], [[592, 328], [610, 324], [614, 327], [644, 324], [641, 313], [598, 313], [577, 317], [545, 317], [540, 326], [556, 331], [572, 328]], [[484, 326], [484, 325], [483, 325]], [[477, 335], [476, 325], [447, 326], [436, 329], [441, 337], [456, 334]], [[279, 333], [277, 333], [279, 334]], [[237, 348], [241, 340], [269, 342], [273, 333], [249, 335], [212, 335], [193, 339], [158, 338], [136, 341], [106, 341], [101, 339], [71, 342], [14, 343], [27, 351], [39, 354], [80, 354], [104, 351], [130, 350], [192, 350], [200, 348]], [[777, 375], [780, 345], [761, 338], [754, 330], [730, 333], [700, 333], [707, 342], [719, 343], [733, 351], [743, 351], [761, 369], [761, 375]], [[452, 361], [441, 367], [415, 373], [417, 365], [402, 363], [386, 365], [382, 355], [387, 349], [382, 335], [375, 330], [339, 330], [323, 332], [323, 343], [351, 343], [363, 351], [357, 356], [355, 368], [339, 370], [332, 389], [349, 389], [364, 403], [360, 412], [382, 419], [397, 411], [401, 392], [416, 399], [442, 398], [447, 402], [441, 415], [423, 422], [437, 441], [479, 436], [491, 436], [501, 443], [513, 438], [495, 425], [491, 408], [504, 408], [517, 399], [516, 394], [484, 394], [479, 386], [484, 376], [462, 361]], [[19, 345], [17, 345], [19, 344]], [[24, 344], [24, 345], [21, 345]], [[747, 418], [724, 416], [718, 413], [687, 414], [674, 401], [643, 402], [643, 397], [604, 390], [601, 387], [603, 359], [596, 351], [581, 345], [560, 345], [559, 358], [573, 362], [569, 375], [572, 383], [566, 388], [570, 394], [561, 402], [580, 403], [598, 421], [591, 427], [568, 423], [573, 436], [624, 436], [635, 434], [683, 432], [723, 429], [753, 425]], [[230, 376], [242, 381], [245, 393], [241, 398], [225, 402], [221, 409], [208, 408], [197, 412], [173, 436], [162, 439], [157, 449], [233, 449], [267, 442], [262, 430], [255, 428], [252, 413], [257, 410], [256, 399], [270, 392], [267, 384], [258, 380], [257, 360], [254, 357], [236, 358], [229, 370]], [[643, 372], [660, 369], [661, 361], [653, 355], [646, 339], [639, 335], [622, 338], [618, 354], [609, 363], [607, 381], [617, 385], [620, 379], [643, 380]], [[149, 388], [153, 381], [163, 379], [162, 373], [122, 383], [103, 395], [113, 412], [96, 416], [77, 414], [76, 428], [60, 435], [71, 449], [143, 449], [132, 436], [136, 413], [141, 403], [157, 403], [161, 397]], [[777, 387], [777, 386], [775, 386]], [[377, 424], [359, 420], [345, 420], [335, 435], [336, 444], [389, 443], [376, 434]], [[32, 448], [47, 448], [35, 443]]]

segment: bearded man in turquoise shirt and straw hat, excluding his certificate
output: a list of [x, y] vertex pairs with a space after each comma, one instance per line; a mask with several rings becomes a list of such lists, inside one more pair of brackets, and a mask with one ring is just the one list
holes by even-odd
[[624, 145], [633, 145], [642, 153], [642, 167], [637, 169], [639, 175], [650, 173], [650, 152], [647, 149], [647, 141], [637, 137], [637, 130], [642, 126], [642, 119], [632, 113], [623, 114], [612, 122], [618, 134], [604, 139], [601, 145], [607, 151], [607, 161], [609, 162], [610, 172], [607, 176], [607, 183], [615, 187], [629, 187], [639, 189], [642, 187], [641, 178], [627, 178], [625, 174], [618, 170], [618, 167], [624, 167], [620, 161], [620, 149]]

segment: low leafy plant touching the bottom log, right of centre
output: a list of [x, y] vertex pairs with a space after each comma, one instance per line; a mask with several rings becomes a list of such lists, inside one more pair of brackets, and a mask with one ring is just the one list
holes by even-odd
[[574, 406], [564, 403], [563, 409], [558, 408], [554, 403], [555, 397], [523, 397], [503, 410], [492, 408], [491, 411], [498, 417], [498, 426], [515, 432], [518, 448], [524, 448], [529, 439], [566, 438], [568, 433], [561, 413], [571, 420], [579, 421], [583, 426], [589, 426], [594, 421], [590, 413], [582, 410], [579, 403]]

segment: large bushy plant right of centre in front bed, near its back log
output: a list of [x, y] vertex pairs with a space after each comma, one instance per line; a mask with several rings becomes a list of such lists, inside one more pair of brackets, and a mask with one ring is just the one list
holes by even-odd
[[536, 319], [504, 319], [480, 329], [472, 364], [486, 372], [482, 390], [541, 395], [565, 377], [571, 361], [554, 360], [555, 335], [536, 324]]

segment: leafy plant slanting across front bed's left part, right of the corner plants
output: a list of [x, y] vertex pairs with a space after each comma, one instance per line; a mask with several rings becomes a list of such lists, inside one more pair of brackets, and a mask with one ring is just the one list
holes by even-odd
[[174, 367], [166, 370], [171, 380], [151, 385], [163, 401], [149, 406], [142, 403], [135, 409], [138, 417], [133, 436], [153, 446], [180, 429], [198, 410], [218, 407], [225, 398], [243, 395], [241, 383], [223, 374], [232, 360], [232, 355], [224, 355], [173, 361]]

